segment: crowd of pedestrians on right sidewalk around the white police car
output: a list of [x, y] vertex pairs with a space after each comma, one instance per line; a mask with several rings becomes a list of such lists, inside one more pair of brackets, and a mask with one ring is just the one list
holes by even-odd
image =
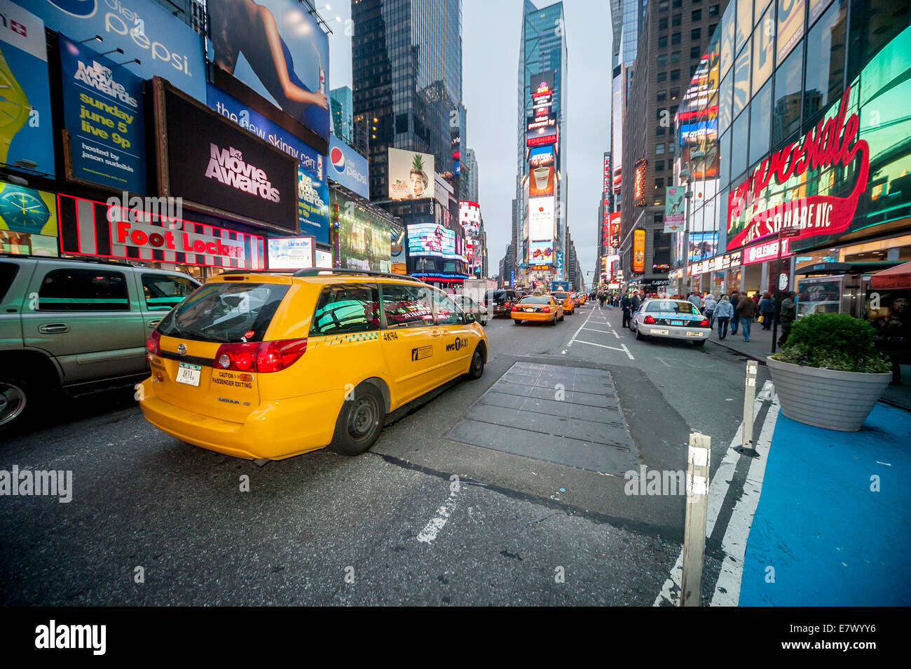
[[607, 303], [623, 310], [623, 327], [630, 326], [632, 314], [639, 310], [642, 300], [647, 297], [685, 299], [709, 319], [710, 327], [714, 328], [717, 323], [720, 340], [726, 339], [728, 334], [740, 332], [743, 341], [749, 342], [754, 322], [761, 323], [763, 330], [771, 330], [777, 318], [781, 332], [778, 337], [778, 345], [783, 346], [791, 334], [791, 326], [797, 318], [797, 304], [794, 301], [796, 295], [797, 293], [793, 291], [781, 293], [776, 301], [773, 294], [768, 291], [762, 295], [756, 291], [752, 296], [746, 292], [732, 291], [716, 298], [712, 293], [700, 294], [695, 291], [691, 291], [688, 295], [640, 293], [640, 291], [620, 293], [619, 291], [608, 291], [602, 287], [594, 296], [598, 298], [602, 307]]

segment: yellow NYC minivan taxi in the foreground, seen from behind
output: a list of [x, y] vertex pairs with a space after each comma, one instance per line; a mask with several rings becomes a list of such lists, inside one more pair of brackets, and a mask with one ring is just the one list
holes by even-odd
[[385, 415], [458, 376], [479, 378], [474, 314], [400, 274], [231, 271], [166, 315], [138, 388], [148, 422], [237, 458], [329, 446], [358, 455]]

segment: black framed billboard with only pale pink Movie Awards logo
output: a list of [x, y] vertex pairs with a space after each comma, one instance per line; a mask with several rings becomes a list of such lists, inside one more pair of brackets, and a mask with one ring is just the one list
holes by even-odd
[[298, 161], [162, 88], [168, 138], [161, 148], [168, 166], [162, 195], [298, 232]]

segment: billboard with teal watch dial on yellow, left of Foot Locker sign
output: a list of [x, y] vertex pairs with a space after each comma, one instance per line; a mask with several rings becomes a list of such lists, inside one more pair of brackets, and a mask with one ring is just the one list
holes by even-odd
[[56, 196], [0, 181], [0, 252], [57, 255]]

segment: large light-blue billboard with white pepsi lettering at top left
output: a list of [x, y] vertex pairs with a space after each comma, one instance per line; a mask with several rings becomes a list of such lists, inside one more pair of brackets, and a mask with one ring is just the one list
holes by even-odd
[[[143, 79], [163, 77], [198, 100], [206, 99], [202, 36], [153, 0], [38, 0], [29, 9], [45, 26], [83, 42], [100, 36], [103, 51]], [[210, 5], [212, 4], [210, 0]]]

